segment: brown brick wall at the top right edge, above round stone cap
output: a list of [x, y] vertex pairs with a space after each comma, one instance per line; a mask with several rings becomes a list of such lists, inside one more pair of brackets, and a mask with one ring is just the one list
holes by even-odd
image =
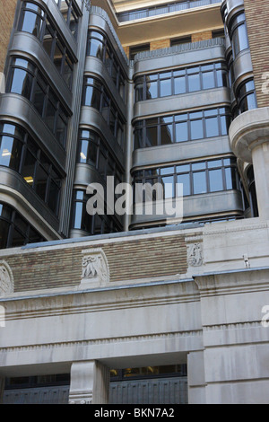
[[263, 75], [269, 73], [269, 2], [244, 0], [244, 3], [258, 107], [269, 107], [269, 94], [262, 89]]

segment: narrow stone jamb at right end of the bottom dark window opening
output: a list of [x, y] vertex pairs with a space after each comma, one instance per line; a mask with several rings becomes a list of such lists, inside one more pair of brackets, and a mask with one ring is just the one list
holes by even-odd
[[188, 404], [205, 404], [204, 352], [187, 356]]

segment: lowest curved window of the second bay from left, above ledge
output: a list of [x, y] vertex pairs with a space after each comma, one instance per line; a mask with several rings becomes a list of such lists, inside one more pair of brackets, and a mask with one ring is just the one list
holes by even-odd
[[87, 213], [86, 206], [90, 198], [84, 190], [74, 190], [71, 229], [82, 230], [91, 236], [119, 232], [119, 227], [108, 215], [89, 215]]

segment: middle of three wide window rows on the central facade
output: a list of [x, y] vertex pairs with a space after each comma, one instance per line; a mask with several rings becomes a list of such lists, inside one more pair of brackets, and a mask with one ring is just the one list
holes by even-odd
[[230, 109], [193, 111], [134, 124], [134, 148], [169, 145], [228, 135]]

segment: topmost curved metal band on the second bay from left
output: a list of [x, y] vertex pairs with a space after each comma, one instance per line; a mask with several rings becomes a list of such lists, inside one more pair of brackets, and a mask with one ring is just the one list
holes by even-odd
[[108, 40], [111, 42], [113, 48], [117, 53], [120, 64], [123, 67], [123, 70], [126, 73], [126, 77], [129, 75], [129, 60], [126, 57], [126, 54], [120, 44], [120, 41], [117, 38], [117, 34], [114, 31], [112, 24], [110, 23], [107, 13], [105, 13], [99, 7], [92, 7], [90, 14], [89, 28], [94, 30], [100, 29], [108, 35]]

